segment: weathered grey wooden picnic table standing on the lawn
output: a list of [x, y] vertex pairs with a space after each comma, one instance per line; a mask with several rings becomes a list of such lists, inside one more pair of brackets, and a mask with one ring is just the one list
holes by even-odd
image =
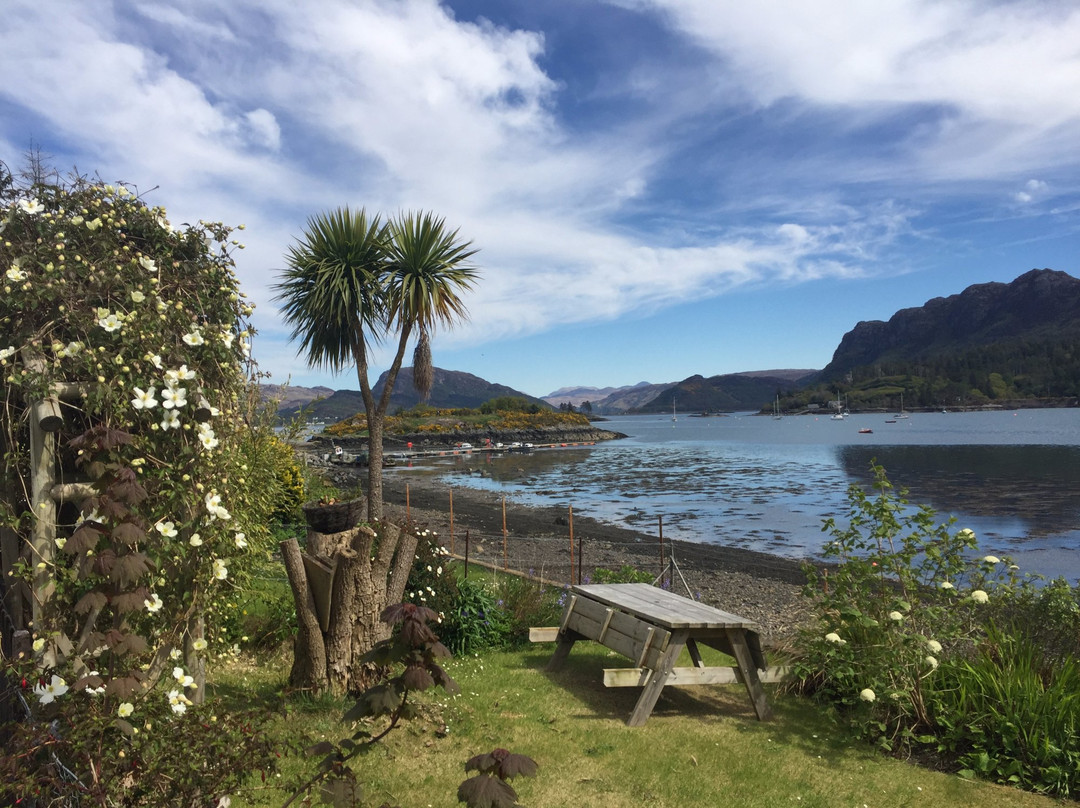
[[[563, 664], [579, 639], [595, 641], [634, 661], [636, 668], [604, 672], [607, 687], [644, 688], [626, 722], [632, 727], [645, 724], [666, 685], [742, 682], [758, 719], [772, 716], [761, 682], [775, 681], [780, 671], [766, 668], [757, 624], [737, 615], [648, 583], [599, 583], [570, 589], [557, 633], [534, 631], [536, 641], [557, 642], [549, 671]], [[738, 666], [706, 668], [699, 643], [734, 657]], [[684, 648], [692, 668], [675, 666]]]

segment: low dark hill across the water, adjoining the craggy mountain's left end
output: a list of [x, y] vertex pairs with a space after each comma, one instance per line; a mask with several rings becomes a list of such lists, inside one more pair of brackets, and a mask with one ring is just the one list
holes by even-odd
[[799, 371], [780, 376], [766, 372], [733, 373], [721, 376], [691, 376], [667, 387], [638, 408], [643, 413], [732, 413], [760, 409], [778, 394], [794, 390], [814, 371]]

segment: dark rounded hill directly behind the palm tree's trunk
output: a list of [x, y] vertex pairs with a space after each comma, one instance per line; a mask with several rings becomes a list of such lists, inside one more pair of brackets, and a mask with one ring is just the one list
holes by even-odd
[[[386, 379], [387, 374], [383, 373], [379, 376], [378, 381], [375, 382], [373, 392], [376, 398], [382, 394]], [[279, 416], [284, 419], [293, 418], [303, 404], [308, 404], [307, 412], [312, 419], [329, 423], [364, 412], [364, 400], [359, 390], [332, 391], [328, 388], [308, 388], [308, 390], [325, 391], [326, 395], [321, 401], [314, 401], [315, 396], [313, 395], [307, 400], [302, 400], [302, 395], [299, 393], [302, 390], [306, 390], [306, 388], [289, 388], [289, 392], [296, 398], [301, 399], [301, 401], [288, 406], [279, 407]], [[502, 395], [527, 399], [540, 406], [548, 406], [546, 402], [514, 390], [505, 385], [495, 385], [469, 373], [444, 371], [441, 367], [434, 369], [434, 383], [431, 387], [431, 395], [428, 398], [428, 403], [434, 407], [478, 407], [484, 402], [498, 399]], [[394, 413], [400, 408], [408, 409], [416, 406], [419, 401], [420, 396], [413, 387], [413, 368], [403, 367], [397, 374], [394, 390], [390, 395], [389, 412]]]

